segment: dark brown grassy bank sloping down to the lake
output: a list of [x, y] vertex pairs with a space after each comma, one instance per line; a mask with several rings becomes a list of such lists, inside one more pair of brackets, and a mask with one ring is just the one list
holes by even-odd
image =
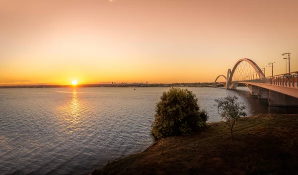
[[92, 173], [102, 174], [298, 174], [298, 114], [240, 118], [233, 140], [224, 123], [210, 123]]

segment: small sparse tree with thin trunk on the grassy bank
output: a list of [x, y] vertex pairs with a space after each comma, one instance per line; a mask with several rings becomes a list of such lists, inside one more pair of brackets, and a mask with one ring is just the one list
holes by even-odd
[[227, 94], [226, 97], [222, 97], [215, 100], [217, 102], [218, 113], [221, 115], [224, 123], [227, 124], [231, 130], [231, 138], [233, 138], [233, 127], [235, 122], [241, 116], [246, 116], [243, 111], [246, 107], [243, 103], [239, 103], [238, 97], [235, 94]]

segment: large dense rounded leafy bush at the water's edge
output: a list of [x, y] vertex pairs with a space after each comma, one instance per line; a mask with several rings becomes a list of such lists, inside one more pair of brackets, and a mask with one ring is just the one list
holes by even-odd
[[196, 95], [188, 89], [170, 88], [164, 91], [156, 104], [152, 135], [157, 139], [187, 135], [206, 126], [208, 113], [200, 111], [197, 101]]

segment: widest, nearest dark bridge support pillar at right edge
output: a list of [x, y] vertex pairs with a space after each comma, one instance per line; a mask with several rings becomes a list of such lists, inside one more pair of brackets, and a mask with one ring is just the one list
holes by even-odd
[[269, 90], [269, 106], [295, 106], [298, 107], [298, 98], [274, 90]]

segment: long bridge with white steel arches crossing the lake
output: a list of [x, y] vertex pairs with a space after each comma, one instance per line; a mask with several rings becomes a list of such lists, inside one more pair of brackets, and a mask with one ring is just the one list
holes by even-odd
[[298, 107], [298, 71], [266, 77], [260, 67], [252, 60], [238, 60], [226, 77], [219, 75], [212, 87], [236, 89], [240, 84], [249, 88], [252, 95], [268, 99], [269, 106]]

